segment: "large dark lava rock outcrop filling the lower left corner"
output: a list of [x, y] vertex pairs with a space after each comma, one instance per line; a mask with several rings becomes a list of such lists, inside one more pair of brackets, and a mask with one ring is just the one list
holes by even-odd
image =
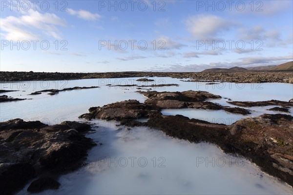
[[48, 126], [13, 119], [0, 123], [0, 194], [10, 195], [32, 178], [29, 192], [59, 187], [60, 174], [78, 169], [95, 145], [84, 132], [90, 125], [65, 121]]

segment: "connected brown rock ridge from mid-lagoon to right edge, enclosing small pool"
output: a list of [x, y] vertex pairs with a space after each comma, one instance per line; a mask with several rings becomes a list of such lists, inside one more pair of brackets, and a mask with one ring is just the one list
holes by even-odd
[[[121, 125], [147, 126], [161, 130], [170, 137], [190, 142], [213, 143], [225, 153], [244, 156], [264, 172], [293, 186], [292, 116], [263, 114], [240, 119], [231, 125], [215, 124], [181, 115], [165, 116], [160, 111], [184, 107], [225, 110], [221, 105], [206, 101], [209, 98], [220, 98], [217, 95], [202, 91], [139, 93], [148, 98], [145, 103], [132, 99], [103, 107], [91, 107], [89, 113], [80, 117], [88, 120], [117, 120]], [[273, 103], [278, 105], [280, 102]], [[292, 106], [292, 103], [282, 102], [282, 105]], [[240, 109], [241, 112], [237, 114], [243, 115], [247, 111], [243, 108], [230, 109], [232, 113], [237, 113]], [[139, 118], [147, 118], [147, 122], [137, 121]]]

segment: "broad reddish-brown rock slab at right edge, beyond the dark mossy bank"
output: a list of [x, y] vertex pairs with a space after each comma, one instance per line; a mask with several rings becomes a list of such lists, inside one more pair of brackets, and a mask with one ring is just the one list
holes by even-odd
[[290, 115], [264, 114], [243, 118], [230, 126], [230, 133], [237, 137], [239, 145], [253, 146], [252, 154], [243, 156], [290, 185], [293, 185], [292, 119]]

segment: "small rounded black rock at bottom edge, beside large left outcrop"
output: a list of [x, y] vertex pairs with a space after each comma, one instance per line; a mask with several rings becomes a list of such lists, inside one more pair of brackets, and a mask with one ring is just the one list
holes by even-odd
[[30, 193], [40, 193], [44, 190], [56, 190], [60, 187], [60, 183], [50, 177], [42, 177], [33, 181], [27, 191]]

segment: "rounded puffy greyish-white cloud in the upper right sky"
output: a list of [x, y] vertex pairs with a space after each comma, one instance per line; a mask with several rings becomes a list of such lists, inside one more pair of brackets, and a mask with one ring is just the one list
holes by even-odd
[[218, 16], [190, 16], [186, 20], [187, 29], [197, 39], [215, 39], [220, 32], [228, 30], [233, 24]]

